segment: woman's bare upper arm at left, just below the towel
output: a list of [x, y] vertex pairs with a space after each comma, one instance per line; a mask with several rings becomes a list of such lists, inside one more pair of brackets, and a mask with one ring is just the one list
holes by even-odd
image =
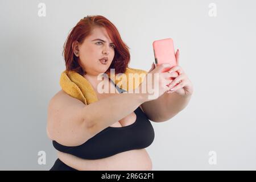
[[86, 105], [67, 94], [56, 94], [48, 105], [47, 132], [65, 146], [78, 146], [92, 137], [84, 121]]

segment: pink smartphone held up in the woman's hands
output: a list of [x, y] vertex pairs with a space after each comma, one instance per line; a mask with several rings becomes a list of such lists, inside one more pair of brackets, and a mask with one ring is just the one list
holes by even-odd
[[[174, 51], [174, 42], [171, 38], [155, 40], [153, 42], [153, 49], [156, 66], [163, 63], [168, 63], [172, 68], [177, 65]], [[171, 68], [164, 68], [163, 72], [167, 72]]]

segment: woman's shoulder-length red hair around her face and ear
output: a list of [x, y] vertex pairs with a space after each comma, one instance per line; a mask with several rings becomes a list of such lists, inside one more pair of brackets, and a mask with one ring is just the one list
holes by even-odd
[[129, 47], [122, 41], [117, 28], [112, 22], [104, 16], [86, 16], [81, 19], [72, 31], [69, 33], [67, 40], [63, 46], [63, 55], [65, 60], [66, 71], [75, 71], [80, 75], [86, 74], [79, 63], [79, 57], [76, 57], [72, 44], [77, 41], [80, 44], [84, 41], [94, 27], [105, 27], [112, 42], [115, 44], [115, 55], [109, 69], [106, 72], [110, 73], [110, 68], [115, 69], [115, 74], [125, 73], [130, 62]]

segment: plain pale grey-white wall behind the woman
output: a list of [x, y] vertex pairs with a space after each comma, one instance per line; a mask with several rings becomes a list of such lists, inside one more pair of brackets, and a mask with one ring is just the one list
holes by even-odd
[[[38, 4], [46, 16], [38, 16]], [[217, 16], [209, 16], [210, 3]], [[68, 32], [103, 15], [130, 47], [131, 68], [148, 71], [152, 42], [172, 38], [194, 86], [188, 106], [154, 123], [153, 170], [256, 169], [254, 1], [0, 1], [0, 169], [48, 170], [47, 106], [60, 90]], [[46, 165], [38, 152], [46, 152]], [[209, 151], [217, 154], [210, 165]]]

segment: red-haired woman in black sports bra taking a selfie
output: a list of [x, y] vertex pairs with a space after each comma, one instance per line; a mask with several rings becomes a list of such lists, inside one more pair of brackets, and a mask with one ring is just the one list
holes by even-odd
[[[115, 74], [124, 73], [130, 61], [128, 47], [104, 16], [87, 16], [76, 24], [64, 44], [64, 59], [67, 71], [79, 73], [90, 82], [98, 101], [85, 105], [63, 89], [53, 96], [48, 106], [47, 135], [58, 150], [58, 159], [51, 170], [152, 170], [145, 149], [154, 140], [148, 119], [162, 122], [171, 118], [167, 110], [164, 115], [153, 108], [169, 97], [160, 100], [160, 96], [174, 92], [191, 96], [191, 82], [181, 74], [182, 69], [175, 67], [172, 73], [161, 73], [168, 65], [152, 66], [149, 72], [159, 73], [162, 83], [154, 102], [148, 99], [148, 93], [120, 94], [126, 90], [120, 91], [111, 79], [104, 83], [109, 92], [100, 92], [98, 75], [109, 73], [110, 68]], [[171, 82], [169, 77], [179, 79]], [[181, 81], [182, 87], [179, 84], [170, 91], [169, 84]], [[144, 79], [137, 89], [144, 84], [152, 86], [153, 82]], [[113, 89], [115, 93], [110, 91]]]

